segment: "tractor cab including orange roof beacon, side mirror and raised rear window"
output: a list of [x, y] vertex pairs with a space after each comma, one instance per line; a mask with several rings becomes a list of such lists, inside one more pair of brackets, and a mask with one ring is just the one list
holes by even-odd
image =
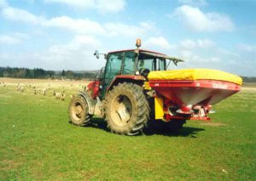
[[[143, 82], [148, 81], [148, 74], [150, 71], [166, 71], [168, 65], [173, 62], [183, 62], [182, 59], [167, 56], [153, 51], [140, 49], [141, 40], [137, 39], [136, 49], [120, 50], [104, 54], [107, 59], [106, 66], [102, 68], [101, 77], [97, 80], [99, 84], [99, 97], [105, 98], [108, 90], [121, 82], [137, 82], [142, 85]], [[96, 50], [96, 58], [99, 59], [99, 53]], [[166, 61], [168, 64], [166, 64]], [[96, 84], [96, 82], [92, 83]], [[89, 84], [89, 87], [91, 86]], [[95, 91], [94, 91], [95, 92]], [[93, 97], [96, 97], [96, 94]]]

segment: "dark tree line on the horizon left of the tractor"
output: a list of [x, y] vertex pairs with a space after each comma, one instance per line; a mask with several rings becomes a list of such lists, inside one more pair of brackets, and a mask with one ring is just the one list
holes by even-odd
[[91, 72], [74, 72], [74, 71], [45, 71], [44, 69], [35, 68], [11, 68], [0, 67], [0, 77], [9, 78], [50, 78], [50, 79], [93, 79], [96, 77], [96, 73]]

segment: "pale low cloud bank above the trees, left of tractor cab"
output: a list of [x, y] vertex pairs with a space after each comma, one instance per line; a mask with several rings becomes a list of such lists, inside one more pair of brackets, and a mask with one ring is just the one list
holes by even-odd
[[[96, 48], [102, 48], [102, 42], [95, 37], [75, 36], [69, 42], [55, 44], [46, 50], [37, 52], [8, 54], [0, 52], [0, 66], [18, 66], [46, 70], [98, 70], [106, 61], [93, 59]], [[3, 60], [3, 61], [2, 61]]]

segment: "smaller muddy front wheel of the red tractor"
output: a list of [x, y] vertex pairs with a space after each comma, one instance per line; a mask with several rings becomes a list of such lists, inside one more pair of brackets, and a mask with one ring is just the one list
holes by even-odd
[[73, 96], [68, 106], [69, 122], [84, 127], [90, 123], [89, 107], [86, 100], [80, 96]]

